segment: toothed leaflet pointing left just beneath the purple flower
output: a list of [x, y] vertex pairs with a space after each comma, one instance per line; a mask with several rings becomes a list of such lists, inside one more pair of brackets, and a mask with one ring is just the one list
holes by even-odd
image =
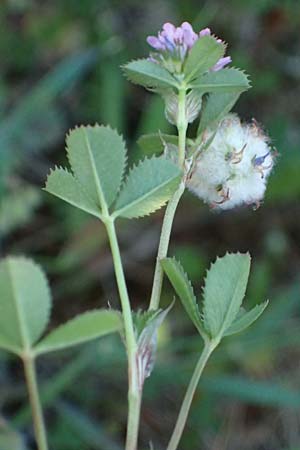
[[177, 86], [175, 78], [162, 66], [147, 59], [137, 59], [123, 66], [127, 78], [135, 84], [149, 88]]

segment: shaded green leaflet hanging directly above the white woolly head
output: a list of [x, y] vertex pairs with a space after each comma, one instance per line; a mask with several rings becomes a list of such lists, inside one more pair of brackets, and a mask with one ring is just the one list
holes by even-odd
[[218, 124], [229, 113], [240, 96], [240, 92], [210, 94], [201, 114], [197, 134], [201, 134], [208, 126]]

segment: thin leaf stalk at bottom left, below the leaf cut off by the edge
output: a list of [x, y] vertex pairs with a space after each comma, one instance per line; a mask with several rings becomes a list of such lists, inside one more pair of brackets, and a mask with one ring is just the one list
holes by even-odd
[[38, 391], [34, 356], [29, 352], [24, 354], [23, 364], [38, 450], [48, 450], [46, 427]]

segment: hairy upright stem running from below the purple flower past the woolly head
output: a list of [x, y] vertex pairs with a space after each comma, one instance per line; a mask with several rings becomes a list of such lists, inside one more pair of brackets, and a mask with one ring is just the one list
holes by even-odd
[[[177, 118], [177, 129], [178, 129], [178, 165], [184, 168], [185, 161], [185, 146], [186, 146], [186, 131], [188, 127], [188, 122], [186, 119], [186, 88], [182, 87], [178, 93], [178, 118]], [[176, 209], [184, 192], [185, 185], [182, 181], [179, 188], [170, 199], [168, 206], [166, 208], [165, 217], [163, 221], [163, 226], [160, 235], [158, 253], [156, 258], [156, 265], [154, 271], [153, 287], [150, 299], [149, 309], [158, 309], [161, 289], [163, 283], [163, 269], [161, 267], [160, 261], [165, 258], [168, 254], [170, 236], [174, 221], [174, 216]]]

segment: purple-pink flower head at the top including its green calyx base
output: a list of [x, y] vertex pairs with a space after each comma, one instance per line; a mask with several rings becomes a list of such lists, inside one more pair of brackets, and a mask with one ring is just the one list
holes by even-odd
[[[162, 64], [170, 72], [180, 73], [188, 52], [203, 36], [211, 36], [211, 30], [204, 28], [197, 34], [188, 22], [183, 22], [177, 28], [172, 23], [165, 23], [158, 37], [148, 36], [147, 38], [148, 44], [156, 50], [151, 53], [150, 60]], [[216, 40], [222, 42], [221, 39]], [[230, 62], [230, 56], [220, 58], [211, 70], [221, 70]]]

